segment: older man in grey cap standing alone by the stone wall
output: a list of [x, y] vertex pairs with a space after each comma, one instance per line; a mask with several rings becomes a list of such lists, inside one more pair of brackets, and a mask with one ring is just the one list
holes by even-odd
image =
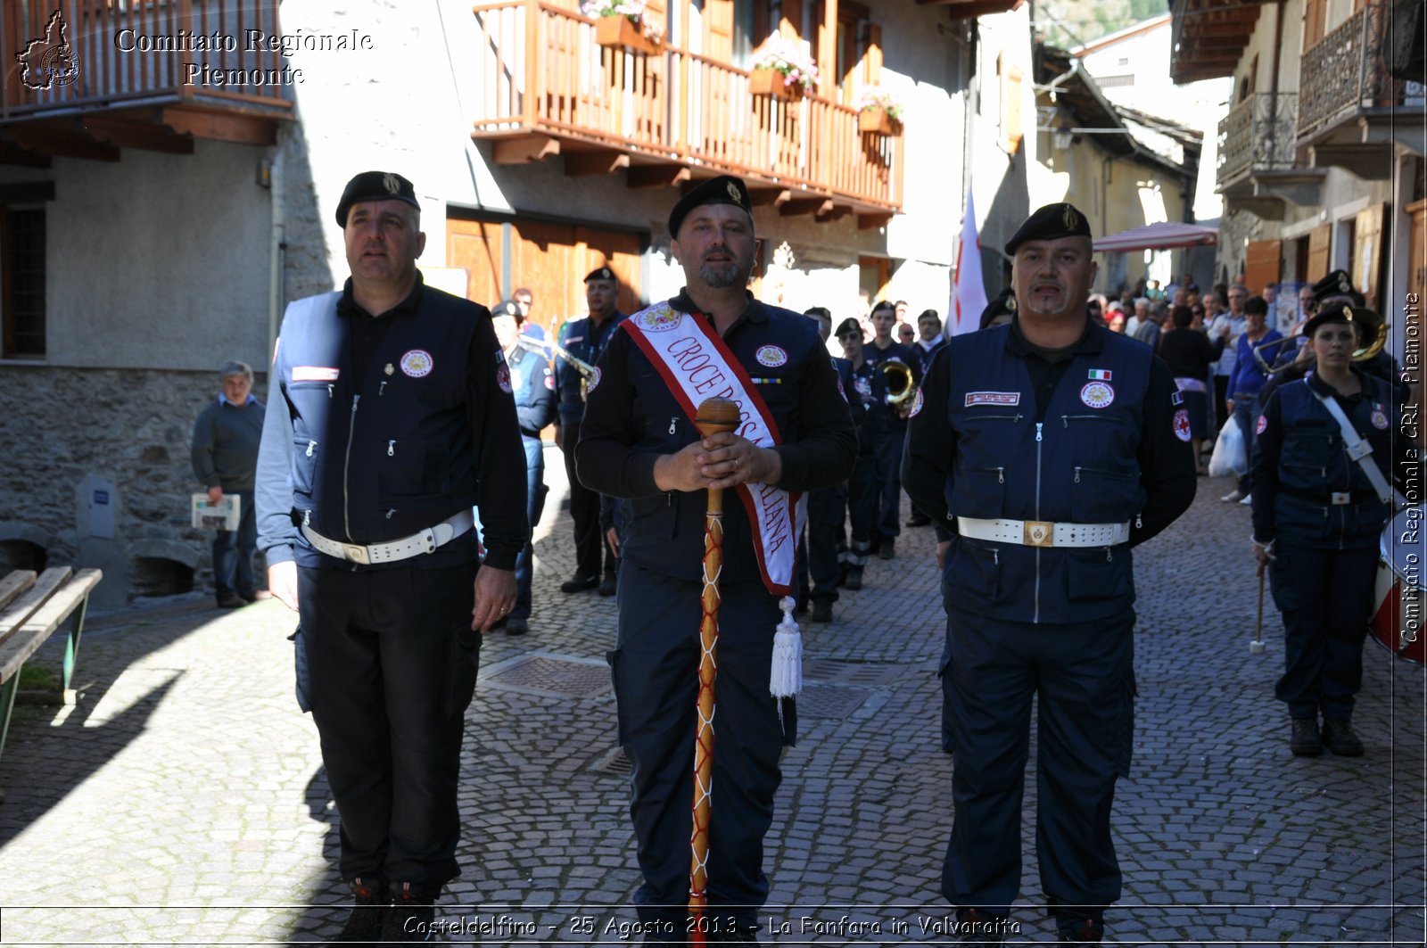
[[190, 460], [194, 475], [217, 504], [224, 494], [238, 497], [238, 528], [220, 530], [213, 538], [213, 584], [218, 605], [231, 610], [261, 598], [253, 574], [257, 550], [257, 517], [253, 513], [253, 477], [263, 438], [263, 403], [253, 394], [253, 368], [224, 363], [218, 370], [218, 400], [193, 425]]

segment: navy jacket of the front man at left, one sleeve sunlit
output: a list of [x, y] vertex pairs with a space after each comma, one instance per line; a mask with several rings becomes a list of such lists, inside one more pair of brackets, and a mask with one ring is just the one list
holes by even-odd
[[482, 306], [417, 280], [354, 391], [354, 320], [342, 293], [287, 307], [258, 454], [258, 548], [270, 564], [437, 568], [475, 558], [475, 531], [435, 553], [360, 567], [308, 544], [298, 524], [341, 543], [400, 540], [479, 504], [485, 561], [501, 570], [529, 534], [525, 453], [509, 370]]

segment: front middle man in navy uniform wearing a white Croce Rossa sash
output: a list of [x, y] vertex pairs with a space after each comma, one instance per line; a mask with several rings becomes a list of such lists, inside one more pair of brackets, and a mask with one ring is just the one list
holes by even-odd
[[[769, 697], [775, 588], [793, 581], [796, 494], [846, 480], [856, 435], [812, 321], [746, 290], [756, 240], [743, 183], [723, 176], [689, 191], [669, 214], [669, 234], [686, 286], [609, 341], [588, 388], [577, 463], [586, 487], [624, 498], [609, 664], [619, 742], [634, 764], [629, 814], [644, 874], [635, 901], [646, 941], [689, 938], [705, 503], [709, 487], [729, 488], [704, 921], [709, 941], [753, 942], [778, 761], [796, 735], [793, 702], [779, 717]], [[742, 404], [742, 427], [701, 438], [691, 411], [714, 395]]]

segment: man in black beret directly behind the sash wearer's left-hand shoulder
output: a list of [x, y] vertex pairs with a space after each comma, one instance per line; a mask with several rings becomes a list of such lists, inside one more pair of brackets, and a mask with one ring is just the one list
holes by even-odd
[[555, 444], [565, 454], [569, 518], [575, 530], [575, 575], [561, 583], [559, 591], [598, 588], [599, 595], [614, 595], [619, 574], [618, 534], [601, 525], [601, 510], [608, 504], [575, 474], [575, 445], [579, 444], [585, 395], [592, 381], [585, 367], [599, 361], [599, 354], [625, 318], [619, 311], [619, 278], [609, 264], [595, 267], [585, 276], [585, 306], [588, 317], [571, 320], [559, 328], [561, 348], [555, 354], [555, 384], [559, 388]]

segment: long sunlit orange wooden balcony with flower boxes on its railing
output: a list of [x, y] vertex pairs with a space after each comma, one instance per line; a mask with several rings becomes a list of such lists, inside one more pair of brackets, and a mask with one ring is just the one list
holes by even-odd
[[564, 156], [629, 187], [738, 174], [755, 203], [862, 227], [902, 207], [900, 137], [859, 131], [848, 106], [755, 96], [746, 70], [676, 46], [601, 47], [594, 20], [538, 0], [477, 6], [475, 29], [472, 134], [497, 163]]

